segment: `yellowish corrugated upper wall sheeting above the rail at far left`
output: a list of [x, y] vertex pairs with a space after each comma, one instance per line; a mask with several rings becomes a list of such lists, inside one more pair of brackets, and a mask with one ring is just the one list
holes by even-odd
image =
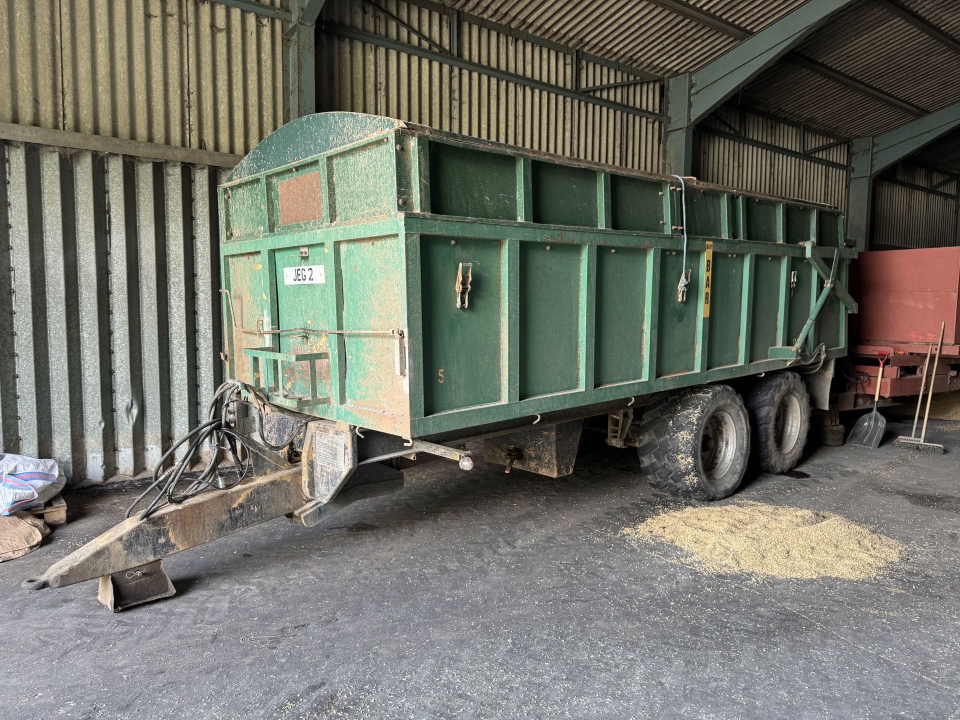
[[239, 155], [282, 123], [279, 20], [204, 0], [2, 0], [0, 36], [0, 122]]

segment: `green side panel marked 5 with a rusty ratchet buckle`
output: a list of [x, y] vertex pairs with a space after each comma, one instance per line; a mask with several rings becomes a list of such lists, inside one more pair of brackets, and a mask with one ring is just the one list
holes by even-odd
[[[423, 408], [427, 415], [500, 399], [502, 243], [420, 238]], [[457, 273], [468, 264], [468, 302], [457, 307]]]

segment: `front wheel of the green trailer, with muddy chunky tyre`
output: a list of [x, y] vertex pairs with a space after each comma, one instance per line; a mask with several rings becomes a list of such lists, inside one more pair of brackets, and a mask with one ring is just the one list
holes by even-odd
[[750, 421], [728, 385], [705, 385], [654, 403], [639, 425], [640, 468], [653, 488], [720, 500], [740, 487]]

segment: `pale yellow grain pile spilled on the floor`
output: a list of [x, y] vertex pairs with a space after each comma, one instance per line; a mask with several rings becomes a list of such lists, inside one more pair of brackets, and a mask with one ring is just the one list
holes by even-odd
[[707, 572], [778, 578], [865, 580], [904, 557], [899, 542], [846, 517], [753, 501], [663, 513], [622, 534], [676, 545]]

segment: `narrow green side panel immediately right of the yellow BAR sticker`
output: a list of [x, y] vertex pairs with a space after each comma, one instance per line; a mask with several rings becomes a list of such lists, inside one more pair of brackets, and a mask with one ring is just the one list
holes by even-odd
[[735, 365], [740, 353], [744, 255], [713, 253], [707, 367]]

